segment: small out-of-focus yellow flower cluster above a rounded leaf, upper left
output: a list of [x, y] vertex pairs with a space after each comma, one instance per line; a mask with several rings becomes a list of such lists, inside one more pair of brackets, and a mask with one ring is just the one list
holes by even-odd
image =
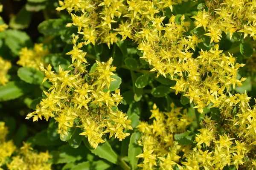
[[33, 50], [27, 47], [21, 48], [20, 60], [18, 65], [23, 67], [32, 67], [39, 70], [42, 59], [49, 53], [48, 49], [44, 49], [43, 44], [35, 44]]

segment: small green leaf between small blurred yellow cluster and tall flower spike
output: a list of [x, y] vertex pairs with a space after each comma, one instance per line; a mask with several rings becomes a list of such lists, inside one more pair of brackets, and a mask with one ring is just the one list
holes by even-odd
[[70, 62], [62, 57], [61, 54], [52, 54], [51, 63], [54, 70], [58, 73], [59, 65], [61, 65], [62, 70], [70, 70], [68, 67], [70, 66]]

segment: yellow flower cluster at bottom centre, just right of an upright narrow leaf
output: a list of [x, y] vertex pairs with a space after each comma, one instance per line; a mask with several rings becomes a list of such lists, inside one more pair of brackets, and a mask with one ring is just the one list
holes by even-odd
[[157, 166], [163, 170], [172, 170], [172, 166], [181, 158], [178, 154], [189, 151], [189, 145], [181, 147], [174, 140], [174, 135], [185, 132], [192, 123], [192, 118], [187, 115], [186, 109], [181, 113], [182, 108], [176, 108], [173, 103], [171, 108], [170, 112], [161, 112], [154, 104], [150, 117], [154, 118], [153, 123], [140, 122], [137, 126], [143, 133], [139, 141], [139, 145], [143, 146], [143, 153], [137, 156], [143, 158], [143, 162], [138, 166], [144, 170], [153, 170]]

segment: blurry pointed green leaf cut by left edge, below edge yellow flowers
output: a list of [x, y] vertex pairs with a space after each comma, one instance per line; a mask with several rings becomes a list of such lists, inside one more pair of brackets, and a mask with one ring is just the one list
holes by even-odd
[[33, 85], [26, 82], [9, 82], [6, 86], [0, 86], [0, 102], [16, 99], [29, 91], [32, 91]]

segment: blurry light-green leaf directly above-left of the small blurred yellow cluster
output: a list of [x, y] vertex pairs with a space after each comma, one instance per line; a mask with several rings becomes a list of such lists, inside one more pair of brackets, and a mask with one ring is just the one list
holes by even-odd
[[16, 56], [20, 55], [21, 48], [32, 47], [32, 41], [26, 32], [8, 29], [5, 34], [5, 43]]

